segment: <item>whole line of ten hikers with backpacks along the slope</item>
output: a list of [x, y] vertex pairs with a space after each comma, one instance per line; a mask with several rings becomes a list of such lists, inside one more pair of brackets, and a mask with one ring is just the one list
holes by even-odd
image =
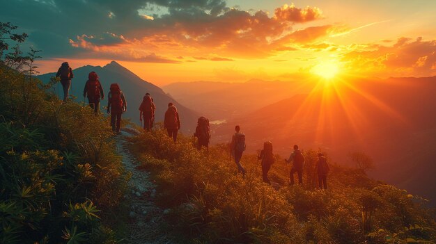
[[[71, 79], [74, 78], [72, 69], [67, 62], [62, 63], [59, 67], [56, 77], [59, 77], [60, 83], [63, 87], [63, 102], [68, 100], [68, 92], [71, 86]], [[88, 97], [88, 104], [93, 109], [93, 113], [98, 114], [100, 109], [100, 99], [104, 99], [104, 92], [102, 84], [100, 83], [98, 74], [90, 72], [88, 74], [88, 80], [84, 87], [84, 98]], [[108, 93], [107, 101], [107, 113], [111, 115], [111, 127], [112, 131], [116, 134], [120, 133], [121, 115], [127, 111], [127, 102], [124, 93], [121, 91], [118, 83], [112, 83]], [[146, 93], [139, 106], [139, 120], [143, 122], [143, 129], [145, 131], [151, 131], [155, 125], [155, 111], [156, 105], [153, 97], [150, 93]], [[173, 138], [174, 142], [177, 141], [178, 131], [180, 130], [180, 117], [176, 106], [172, 102], [168, 104], [164, 115], [164, 129], [168, 133], [168, 136]], [[206, 117], [199, 117], [197, 120], [196, 130], [194, 132], [194, 138], [197, 138], [197, 149], [201, 150], [201, 147], [209, 149], [210, 143], [210, 125], [209, 120]], [[247, 170], [244, 169], [241, 163], [242, 154], [245, 151], [247, 145], [245, 144], [245, 135], [240, 132], [240, 126], [235, 126], [235, 133], [232, 136], [230, 144], [230, 158], [233, 158], [238, 169], [238, 173], [242, 173], [244, 177]], [[299, 149], [298, 145], [294, 145], [293, 152], [288, 159], [285, 159], [285, 163], [291, 163], [292, 167], [289, 172], [290, 185], [295, 184], [294, 174], [298, 175], [298, 184], [303, 184], [303, 168], [304, 168], [304, 155]], [[258, 160], [262, 167], [262, 179], [265, 183], [270, 184], [268, 179], [268, 172], [270, 171], [274, 163], [274, 154], [272, 152], [272, 143], [266, 141], [263, 144], [263, 149], [258, 154]], [[319, 188], [327, 189], [327, 174], [329, 172], [329, 165], [327, 159], [322, 153], [318, 154], [318, 162], [316, 163], [316, 172], [318, 173], [318, 186]]]

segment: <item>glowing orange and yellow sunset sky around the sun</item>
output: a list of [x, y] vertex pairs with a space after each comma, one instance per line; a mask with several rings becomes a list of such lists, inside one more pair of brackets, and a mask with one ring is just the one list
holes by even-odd
[[38, 64], [44, 73], [64, 60], [73, 68], [117, 60], [158, 86], [286, 81], [320, 64], [357, 76], [436, 75], [436, 1], [399, 2], [227, 1], [218, 14], [186, 16], [143, 8], [137, 13], [148, 27], [72, 36], [68, 44], [79, 54]]

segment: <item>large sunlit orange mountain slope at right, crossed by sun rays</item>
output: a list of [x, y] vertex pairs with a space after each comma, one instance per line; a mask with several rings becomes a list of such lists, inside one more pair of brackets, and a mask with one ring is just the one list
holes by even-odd
[[337, 82], [235, 118], [213, 140], [228, 142], [240, 124], [249, 152], [265, 140], [283, 156], [298, 144], [349, 164], [350, 152], [365, 152], [376, 179], [436, 200], [435, 91], [436, 77]]

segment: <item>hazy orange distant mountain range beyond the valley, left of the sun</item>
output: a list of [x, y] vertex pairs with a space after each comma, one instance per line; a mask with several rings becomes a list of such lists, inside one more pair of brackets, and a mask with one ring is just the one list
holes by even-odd
[[228, 120], [254, 112], [297, 93], [309, 92], [312, 88], [313, 82], [309, 81], [251, 79], [245, 83], [209, 81], [171, 83], [163, 89], [181, 104], [194, 111], [203, 111], [212, 120]]

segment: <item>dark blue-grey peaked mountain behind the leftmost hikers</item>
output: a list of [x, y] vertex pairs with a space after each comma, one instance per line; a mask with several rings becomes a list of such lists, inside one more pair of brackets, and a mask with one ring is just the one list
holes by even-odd
[[[57, 70], [56, 70], [57, 71]], [[148, 81], [144, 81], [139, 78], [136, 74], [127, 70], [125, 67], [120, 64], [112, 61], [111, 63], [101, 66], [91, 66], [86, 65], [84, 67], [79, 67], [73, 70], [74, 79], [72, 79], [72, 88], [70, 88], [70, 94], [78, 97], [78, 101], [83, 101], [83, 90], [86, 81], [88, 80], [88, 74], [91, 71], [97, 72], [100, 77], [100, 82], [102, 83], [104, 90], [104, 100], [100, 103], [100, 108], [103, 109], [104, 106], [107, 106], [107, 93], [109, 92], [109, 87], [111, 83], [120, 84], [121, 90], [123, 90], [125, 97], [127, 99], [127, 112], [123, 115], [123, 117], [127, 117], [132, 119], [132, 122], [139, 123], [139, 105], [143, 99], [143, 96], [146, 92], [149, 92], [150, 95], [155, 100], [156, 104], [156, 122], [162, 121], [164, 119], [164, 113], [170, 101], [173, 102], [178, 108], [180, 113], [180, 120], [182, 122], [182, 131], [191, 131], [196, 127], [196, 120], [199, 117], [194, 111], [182, 106], [170, 97], [166, 95], [165, 92], [153, 85]], [[42, 74], [38, 76], [44, 82], [49, 81], [50, 77], [55, 76], [56, 73], [48, 73]], [[54, 87], [55, 92], [57, 86]], [[59, 95], [63, 96], [63, 91], [61, 85], [59, 84]], [[88, 100], [86, 99], [86, 102]]]

